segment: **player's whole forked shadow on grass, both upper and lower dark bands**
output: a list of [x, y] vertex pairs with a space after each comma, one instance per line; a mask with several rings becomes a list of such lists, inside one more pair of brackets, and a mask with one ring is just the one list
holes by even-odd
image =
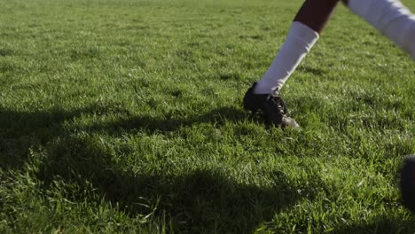
[[[64, 123], [82, 114], [102, 113], [98, 107], [72, 112], [20, 113], [0, 109], [0, 159], [2, 168], [20, 169], [28, 160], [30, 149], [39, 150], [35, 176], [48, 190], [55, 180], [78, 184], [99, 199], [119, 204], [130, 216], [152, 214], [150, 219], [177, 232], [252, 232], [260, 223], [270, 221], [279, 210], [292, 206], [301, 194], [280, 172], [272, 173], [275, 184], [269, 187], [239, 183], [223, 171], [200, 168], [184, 175], [167, 175], [162, 171], [133, 173], [114, 162], [102, 145], [80, 130], [120, 135], [134, 131], [166, 132], [200, 122], [223, 125], [226, 121], [243, 121], [246, 113], [222, 107], [188, 119], [154, 119], [131, 116], [128, 119], [95, 124], [87, 129], [67, 129]], [[35, 157], [35, 156], [34, 156]], [[30, 157], [30, 160], [33, 157]], [[321, 184], [303, 184], [301, 190]], [[310, 195], [310, 196], [311, 196]], [[67, 199], [80, 202], [96, 196], [67, 191]], [[96, 200], [99, 202], [99, 200]], [[145, 205], [143, 205], [145, 204]]]

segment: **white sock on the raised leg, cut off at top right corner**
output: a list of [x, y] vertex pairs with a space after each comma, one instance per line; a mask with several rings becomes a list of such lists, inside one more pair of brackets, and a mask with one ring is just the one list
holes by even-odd
[[415, 15], [397, 0], [348, 0], [348, 8], [415, 60]]

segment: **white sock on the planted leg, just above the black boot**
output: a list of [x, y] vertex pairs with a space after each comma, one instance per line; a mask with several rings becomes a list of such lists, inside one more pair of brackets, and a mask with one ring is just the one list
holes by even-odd
[[256, 84], [254, 93], [270, 94], [281, 90], [302, 58], [317, 42], [318, 37], [318, 33], [310, 27], [301, 22], [293, 22], [290, 32], [286, 36], [286, 42], [278, 51], [277, 57], [272, 61], [270, 68]]

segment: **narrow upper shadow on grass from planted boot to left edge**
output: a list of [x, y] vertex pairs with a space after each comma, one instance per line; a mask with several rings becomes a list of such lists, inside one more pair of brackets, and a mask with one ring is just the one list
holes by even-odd
[[[82, 115], [106, 115], [108, 113], [125, 113], [117, 121], [103, 122], [91, 126], [67, 129], [63, 127], [66, 121], [74, 121]], [[125, 133], [145, 131], [156, 132], [175, 131], [184, 126], [201, 122], [211, 122], [223, 125], [225, 121], [242, 121], [247, 118], [235, 107], [224, 106], [208, 113], [189, 118], [156, 118], [148, 115], [134, 115], [125, 109], [115, 109], [112, 106], [90, 106], [83, 109], [65, 111], [17, 112], [0, 108], [0, 166], [20, 167], [27, 158], [30, 149], [36, 145], [45, 145], [51, 140], [70, 135], [74, 132], [99, 132], [111, 136], [121, 136]]]

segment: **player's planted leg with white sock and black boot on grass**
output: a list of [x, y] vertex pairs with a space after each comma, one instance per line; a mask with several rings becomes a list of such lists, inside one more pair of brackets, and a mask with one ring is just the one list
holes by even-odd
[[284, 102], [278, 97], [286, 80], [294, 72], [325, 28], [339, 0], [307, 0], [294, 18], [286, 41], [261, 80], [247, 90], [244, 108], [262, 112], [265, 121], [282, 127], [297, 123], [286, 117]]

